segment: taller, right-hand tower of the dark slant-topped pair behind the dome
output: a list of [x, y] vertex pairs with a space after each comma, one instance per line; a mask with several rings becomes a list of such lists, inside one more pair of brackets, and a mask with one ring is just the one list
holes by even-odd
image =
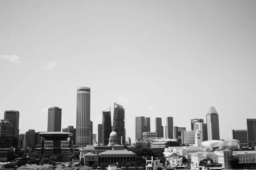
[[113, 130], [117, 134], [117, 143], [125, 144], [125, 108], [114, 103]]

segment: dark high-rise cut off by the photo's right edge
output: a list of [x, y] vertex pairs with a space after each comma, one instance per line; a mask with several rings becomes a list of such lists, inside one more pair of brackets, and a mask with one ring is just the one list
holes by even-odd
[[256, 143], [256, 119], [244, 119], [244, 128], [247, 130], [248, 142]]

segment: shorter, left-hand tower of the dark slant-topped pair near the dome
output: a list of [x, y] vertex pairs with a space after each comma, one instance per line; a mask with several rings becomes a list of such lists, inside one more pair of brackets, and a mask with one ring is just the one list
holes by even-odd
[[111, 109], [105, 109], [102, 111], [102, 145], [108, 145], [109, 135], [112, 132], [111, 125]]

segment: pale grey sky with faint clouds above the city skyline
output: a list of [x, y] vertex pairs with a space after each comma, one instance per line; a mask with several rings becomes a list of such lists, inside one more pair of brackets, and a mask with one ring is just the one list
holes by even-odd
[[[256, 119], [256, 1], [0, 1], [0, 119], [20, 112], [20, 133], [47, 131], [47, 109], [76, 127], [76, 89], [91, 88], [93, 133], [102, 110], [206, 122], [214, 106], [220, 138]], [[113, 121], [113, 120], [112, 120]], [[127, 140], [127, 139], [126, 139]]]

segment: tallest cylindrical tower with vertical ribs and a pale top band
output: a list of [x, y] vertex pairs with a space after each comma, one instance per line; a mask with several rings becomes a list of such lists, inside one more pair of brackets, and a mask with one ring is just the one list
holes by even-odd
[[77, 88], [76, 101], [76, 144], [83, 147], [90, 143], [90, 88]]

